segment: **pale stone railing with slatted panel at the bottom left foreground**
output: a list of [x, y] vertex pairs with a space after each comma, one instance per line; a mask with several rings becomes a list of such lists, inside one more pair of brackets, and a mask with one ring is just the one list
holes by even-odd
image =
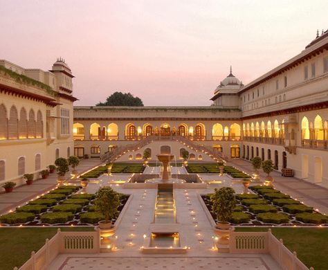
[[[37, 253], [32, 251], [30, 259], [19, 270], [46, 269], [60, 253], [99, 253], [100, 233], [95, 232], [62, 232], [46, 240]], [[14, 268], [17, 270], [17, 267]]]

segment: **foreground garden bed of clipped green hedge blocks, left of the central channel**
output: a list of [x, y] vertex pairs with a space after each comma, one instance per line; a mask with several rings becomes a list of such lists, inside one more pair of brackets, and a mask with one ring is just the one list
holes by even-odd
[[[1, 226], [94, 226], [104, 217], [95, 212], [95, 195], [76, 194], [80, 188], [60, 186], [13, 213], [1, 215]], [[129, 195], [121, 194], [118, 215], [128, 198]]]

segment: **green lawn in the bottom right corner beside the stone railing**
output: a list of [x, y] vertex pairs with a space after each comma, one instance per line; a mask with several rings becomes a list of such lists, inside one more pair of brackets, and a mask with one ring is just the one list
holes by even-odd
[[[235, 231], [267, 231], [268, 228], [240, 228]], [[284, 245], [298, 253], [298, 258], [307, 267], [316, 270], [327, 269], [327, 228], [271, 228], [277, 239], [282, 238]]]

